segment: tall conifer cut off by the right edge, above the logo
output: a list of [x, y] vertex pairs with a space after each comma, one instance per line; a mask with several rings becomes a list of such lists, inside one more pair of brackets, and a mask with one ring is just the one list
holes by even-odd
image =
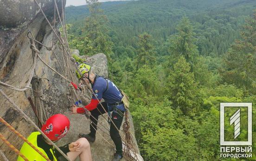
[[256, 93], [256, 12], [241, 31], [242, 40], [237, 40], [224, 59], [224, 80]]

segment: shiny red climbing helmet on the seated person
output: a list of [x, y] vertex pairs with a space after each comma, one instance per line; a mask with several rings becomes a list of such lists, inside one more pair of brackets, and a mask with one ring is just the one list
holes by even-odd
[[70, 120], [62, 114], [56, 114], [46, 120], [41, 130], [51, 141], [56, 141], [64, 137], [69, 129]]

